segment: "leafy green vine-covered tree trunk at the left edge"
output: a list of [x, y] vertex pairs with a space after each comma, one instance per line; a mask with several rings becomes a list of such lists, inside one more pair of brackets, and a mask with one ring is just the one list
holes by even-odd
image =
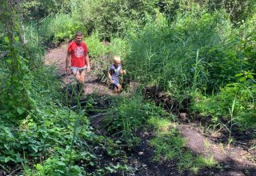
[[2, 2], [0, 24], [3, 25], [1, 31], [2, 48], [6, 54], [3, 56], [4, 72], [1, 78], [0, 107], [3, 111], [2, 117], [15, 122], [24, 118], [26, 110], [30, 110], [30, 73], [28, 58], [25, 57], [24, 47], [21, 41], [20, 22], [16, 11], [12, 8], [12, 2]]

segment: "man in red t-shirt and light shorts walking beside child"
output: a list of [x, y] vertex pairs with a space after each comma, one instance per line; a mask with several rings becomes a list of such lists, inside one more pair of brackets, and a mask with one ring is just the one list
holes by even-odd
[[[82, 42], [82, 32], [77, 32], [74, 41], [70, 42], [66, 54], [66, 73], [74, 74], [78, 82], [78, 91], [83, 90], [85, 73], [90, 72], [90, 58], [88, 47]], [[71, 57], [70, 57], [71, 56]]]

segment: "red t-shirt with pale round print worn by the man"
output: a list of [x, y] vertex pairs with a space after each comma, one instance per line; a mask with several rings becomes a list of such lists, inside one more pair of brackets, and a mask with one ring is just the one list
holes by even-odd
[[72, 41], [70, 42], [67, 50], [71, 53], [71, 66], [86, 66], [85, 58], [89, 50], [85, 42], [80, 42], [80, 44], [77, 44], [76, 42]]

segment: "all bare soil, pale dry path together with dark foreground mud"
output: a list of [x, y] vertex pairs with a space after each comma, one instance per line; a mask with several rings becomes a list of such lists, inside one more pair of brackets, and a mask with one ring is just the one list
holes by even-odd
[[[64, 85], [74, 82], [74, 77], [65, 73], [66, 45], [49, 50], [45, 56], [45, 63], [49, 66], [56, 66], [57, 72], [60, 75], [60, 78], [62, 78]], [[93, 74], [97, 72], [97, 70], [94, 70], [97, 69], [97, 67], [94, 66], [93, 61], [91, 62], [91, 65], [93, 71], [86, 73], [84, 95], [89, 96], [90, 94], [96, 94], [99, 98], [98, 102], [100, 102], [100, 98], [104, 96], [107, 96], [108, 98], [117, 96], [106, 85], [98, 82], [97, 75]], [[158, 99], [158, 101], [168, 102], [162, 94], [161, 96], [159, 95], [158, 98], [159, 97], [160, 99]], [[171, 101], [173, 100], [170, 99], [169, 102]], [[104, 103], [102, 103], [102, 106], [104, 106]], [[175, 105], [175, 103], [173, 103], [173, 105]], [[177, 128], [187, 140], [187, 150], [193, 151], [194, 154], [202, 154], [208, 157], [213, 156], [219, 163], [218, 167], [199, 170], [196, 175], [256, 175], [256, 150], [250, 148], [250, 146], [256, 142], [256, 139], [254, 138], [256, 130], [239, 132], [237, 134], [234, 133], [236, 142], [228, 146], [226, 145], [227, 134], [225, 130], [212, 134], [206, 133], [199, 126], [199, 124], [202, 124], [202, 118], [194, 121], [187, 121], [190, 116], [187, 110], [179, 110], [175, 113], [180, 118], [180, 124]], [[91, 125], [94, 126], [95, 130], [100, 134], [105, 133], [104, 130], [102, 130], [103, 118], [104, 116], [101, 114], [93, 114], [92, 118], [90, 118]], [[154, 162], [152, 160], [154, 149], [149, 145], [149, 139], [152, 138], [152, 135], [153, 133], [150, 131], [141, 131], [138, 134], [141, 138], [141, 143], [132, 150], [126, 151], [129, 156], [128, 162], [130, 163], [130, 166], [137, 168], [135, 175], [195, 175], [190, 172], [178, 172], [175, 161]]]

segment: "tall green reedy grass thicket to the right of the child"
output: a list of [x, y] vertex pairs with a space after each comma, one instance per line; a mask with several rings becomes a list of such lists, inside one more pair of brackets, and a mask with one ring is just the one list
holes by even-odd
[[[224, 26], [222, 21], [226, 22], [222, 30], [228, 33], [224, 36], [219, 31]], [[231, 28], [227, 26], [228, 20], [219, 13], [188, 14], [187, 17], [179, 17], [170, 26], [166, 18], [159, 16], [158, 20], [148, 24], [137, 38], [130, 41], [132, 46], [127, 66], [141, 70], [134, 72], [139, 80], [157, 84], [164, 90], [186, 90], [191, 87], [202, 90], [206, 85], [209, 89], [213, 88], [216, 82], [212, 77], [217, 68], [212, 62], [221, 64], [218, 54], [229, 57], [222, 50], [217, 50], [224, 47], [222, 41], [231, 37]], [[238, 70], [235, 64], [231, 67]], [[218, 76], [222, 78], [221, 74]]]

